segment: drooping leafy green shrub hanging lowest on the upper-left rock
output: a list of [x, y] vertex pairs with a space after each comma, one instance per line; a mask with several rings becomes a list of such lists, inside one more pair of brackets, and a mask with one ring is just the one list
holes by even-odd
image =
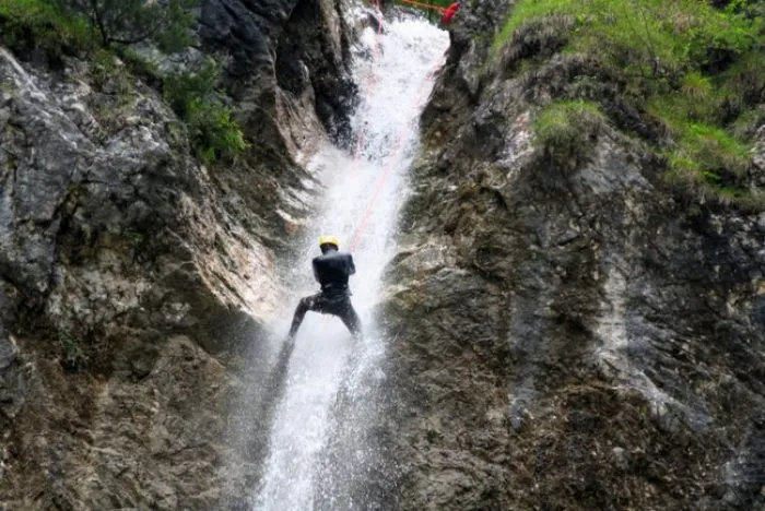
[[215, 90], [220, 71], [220, 64], [208, 59], [196, 72], [168, 76], [164, 83], [165, 98], [186, 121], [193, 147], [209, 164], [247, 147], [231, 108]]

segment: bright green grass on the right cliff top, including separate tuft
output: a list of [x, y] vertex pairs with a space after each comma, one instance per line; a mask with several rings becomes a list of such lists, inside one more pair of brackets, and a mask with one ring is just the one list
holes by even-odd
[[[757, 108], [765, 103], [762, 11], [765, 2], [746, 0], [723, 9], [704, 0], [519, 0], [492, 50], [496, 58], [508, 44], [523, 45], [532, 26], [564, 27], [554, 33], [564, 52], [597, 62], [622, 99], [667, 128], [658, 151], [670, 180], [684, 176], [707, 197], [752, 204], [737, 177], [749, 164], [753, 127], [765, 118]], [[565, 143], [580, 114], [569, 103], [544, 108], [538, 139]]]

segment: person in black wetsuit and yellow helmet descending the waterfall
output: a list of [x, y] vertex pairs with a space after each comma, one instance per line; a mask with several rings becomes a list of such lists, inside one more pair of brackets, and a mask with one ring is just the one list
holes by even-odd
[[313, 310], [322, 314], [339, 317], [357, 340], [362, 336], [362, 323], [351, 304], [351, 290], [348, 280], [356, 273], [353, 257], [340, 251], [340, 241], [334, 236], [322, 236], [319, 239], [321, 255], [314, 258], [314, 278], [321, 285], [321, 290], [313, 296], [301, 299], [292, 319], [287, 341], [292, 342], [306, 312]]

